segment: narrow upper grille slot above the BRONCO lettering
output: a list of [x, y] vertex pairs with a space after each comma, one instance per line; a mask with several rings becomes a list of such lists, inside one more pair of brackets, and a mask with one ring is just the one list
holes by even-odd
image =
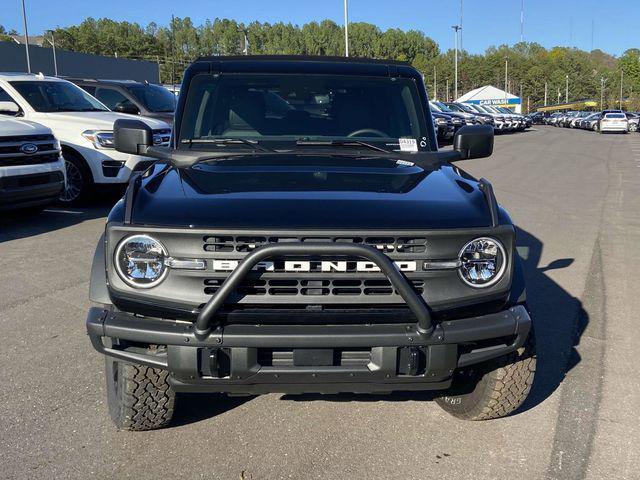
[[313, 243], [355, 243], [369, 245], [384, 253], [416, 254], [427, 250], [425, 237], [406, 236], [247, 236], [247, 235], [221, 235], [205, 236], [205, 252], [235, 252], [248, 253], [256, 248], [270, 243], [287, 242], [313, 242]]

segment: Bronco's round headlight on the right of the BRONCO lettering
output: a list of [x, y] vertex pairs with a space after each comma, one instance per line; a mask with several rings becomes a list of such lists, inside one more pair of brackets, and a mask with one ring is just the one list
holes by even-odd
[[493, 238], [476, 238], [460, 251], [460, 278], [472, 287], [489, 287], [502, 277], [507, 257], [502, 244]]

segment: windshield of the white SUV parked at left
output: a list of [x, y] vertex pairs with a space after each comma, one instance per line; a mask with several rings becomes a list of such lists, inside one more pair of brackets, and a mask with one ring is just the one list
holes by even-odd
[[70, 82], [9, 82], [36, 112], [106, 112], [108, 109]]

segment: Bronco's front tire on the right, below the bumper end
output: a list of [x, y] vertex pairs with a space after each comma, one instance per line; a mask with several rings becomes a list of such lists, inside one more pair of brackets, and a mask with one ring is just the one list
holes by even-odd
[[533, 331], [513, 353], [456, 371], [453, 386], [436, 402], [463, 420], [509, 415], [527, 398], [536, 370]]

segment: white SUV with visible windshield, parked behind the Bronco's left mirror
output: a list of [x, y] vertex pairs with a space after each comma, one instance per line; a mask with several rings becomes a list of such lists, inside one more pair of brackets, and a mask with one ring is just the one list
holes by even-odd
[[152, 162], [113, 148], [113, 123], [136, 118], [154, 131], [156, 144], [167, 144], [171, 127], [160, 120], [110, 111], [80, 87], [44, 75], [0, 73], [0, 114], [20, 116], [49, 127], [60, 141], [67, 169], [67, 188], [60, 196], [77, 203], [96, 184], [125, 184], [132, 172]]

